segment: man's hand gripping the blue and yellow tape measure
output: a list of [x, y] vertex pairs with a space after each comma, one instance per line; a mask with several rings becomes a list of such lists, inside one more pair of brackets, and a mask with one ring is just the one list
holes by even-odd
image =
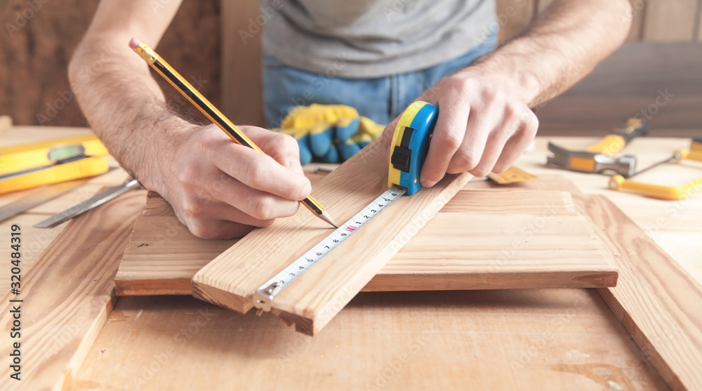
[[[439, 80], [417, 100], [439, 106], [439, 118], [420, 174], [431, 187], [446, 173], [476, 177], [509, 168], [534, 140], [538, 119], [526, 91], [498, 74], [468, 67]], [[383, 131], [389, 148], [399, 117]]]

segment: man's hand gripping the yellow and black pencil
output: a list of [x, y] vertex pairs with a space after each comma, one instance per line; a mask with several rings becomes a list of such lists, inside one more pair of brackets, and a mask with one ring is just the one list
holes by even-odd
[[197, 237], [240, 237], [293, 215], [310, 194], [292, 137], [255, 126], [241, 131], [265, 154], [234, 143], [215, 125], [192, 126], [148, 148], [155, 166], [138, 173], [147, 177], [140, 180]]

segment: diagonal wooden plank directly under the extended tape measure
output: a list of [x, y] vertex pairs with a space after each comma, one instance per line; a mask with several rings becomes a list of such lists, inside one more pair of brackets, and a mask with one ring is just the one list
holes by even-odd
[[[387, 167], [377, 139], [319, 181], [313, 193], [345, 222], [388, 190]], [[446, 175], [434, 187], [395, 201], [279, 293], [274, 310], [298, 331], [321, 330], [468, 180], [468, 173]], [[246, 312], [253, 291], [330, 233], [304, 208], [255, 230], [194, 275], [193, 296]]]

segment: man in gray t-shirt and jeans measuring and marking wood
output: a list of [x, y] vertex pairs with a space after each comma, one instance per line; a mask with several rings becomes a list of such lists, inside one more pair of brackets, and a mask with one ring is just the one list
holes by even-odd
[[[269, 126], [296, 98], [309, 98], [307, 90], [310, 103], [351, 105], [381, 123], [415, 98], [435, 103], [439, 119], [420, 175], [424, 186], [445, 173], [484, 176], [508, 168], [536, 134], [529, 107], [584, 77], [630, 27], [627, 0], [553, 0], [521, 36], [476, 60], [496, 37], [489, 0], [261, 4], [274, 9], [263, 35]], [[161, 5], [154, 13], [149, 1], [100, 2], [69, 66], [88, 122], [121, 165], [167, 199], [199, 237], [237, 237], [291, 216], [311, 190], [295, 140], [240, 126], [264, 155], [232, 143], [214, 125], [176, 117], [145, 62], [127, 48], [131, 37], [157, 45], [180, 1]], [[81, 78], [105, 47], [119, 53], [99, 74]]]

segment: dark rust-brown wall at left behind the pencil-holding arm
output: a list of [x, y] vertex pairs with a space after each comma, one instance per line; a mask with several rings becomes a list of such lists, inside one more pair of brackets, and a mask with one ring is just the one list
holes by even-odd
[[[0, 114], [9, 114], [18, 125], [87, 125], [67, 92], [67, 67], [97, 6], [98, 0], [1, 2]], [[195, 42], [193, 32], [205, 39]], [[159, 51], [168, 53], [168, 62], [187, 79], [206, 81], [201, 92], [220, 104], [219, 0], [183, 1]], [[165, 82], [161, 87], [167, 99], [177, 94]]]

